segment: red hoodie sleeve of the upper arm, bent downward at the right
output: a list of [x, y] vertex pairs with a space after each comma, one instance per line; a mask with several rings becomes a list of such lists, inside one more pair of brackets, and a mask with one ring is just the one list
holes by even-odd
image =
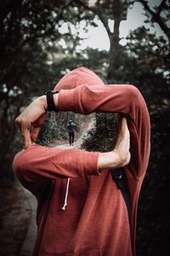
[[129, 171], [133, 177], [144, 175], [150, 155], [150, 117], [143, 96], [133, 85], [84, 84], [72, 90], [60, 90], [59, 111], [77, 113], [122, 113], [127, 117], [131, 136]]

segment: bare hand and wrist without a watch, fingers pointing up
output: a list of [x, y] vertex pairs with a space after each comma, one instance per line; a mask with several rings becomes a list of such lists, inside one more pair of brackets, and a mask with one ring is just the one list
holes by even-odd
[[127, 166], [130, 161], [130, 133], [127, 127], [127, 119], [122, 118], [119, 124], [119, 134], [113, 151], [101, 153], [98, 159], [98, 168], [120, 168]]

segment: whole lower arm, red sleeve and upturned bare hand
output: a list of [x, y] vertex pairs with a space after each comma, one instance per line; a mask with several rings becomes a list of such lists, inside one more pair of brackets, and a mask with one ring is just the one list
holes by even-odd
[[56, 177], [85, 177], [99, 175], [103, 170], [127, 166], [130, 160], [130, 138], [127, 120], [122, 118], [120, 131], [113, 151], [88, 152], [71, 148], [32, 146], [14, 158], [14, 172], [26, 189], [37, 195], [48, 179]]

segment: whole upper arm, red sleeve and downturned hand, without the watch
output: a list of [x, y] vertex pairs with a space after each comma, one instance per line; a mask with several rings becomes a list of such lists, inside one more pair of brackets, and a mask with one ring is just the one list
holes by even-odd
[[[134, 177], [144, 175], [150, 154], [150, 117], [139, 90], [133, 85], [82, 85], [72, 90], [60, 90], [54, 95], [54, 104], [59, 111], [77, 113], [112, 112], [127, 117], [131, 134], [131, 161], [129, 169]], [[37, 98], [16, 119], [20, 125], [25, 148], [35, 140], [41, 125], [42, 115], [47, 111], [46, 96]], [[35, 111], [37, 109], [37, 111]], [[35, 128], [30, 136], [30, 127]]]

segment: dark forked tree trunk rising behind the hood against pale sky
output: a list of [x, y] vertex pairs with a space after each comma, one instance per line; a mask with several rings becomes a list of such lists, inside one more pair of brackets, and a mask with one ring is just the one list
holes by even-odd
[[[105, 26], [105, 30], [110, 39], [109, 66], [107, 80], [110, 84], [116, 84], [121, 78], [120, 67], [120, 24], [122, 20], [127, 20], [127, 9], [133, 6], [134, 1], [115, 0], [115, 1], [77, 1], [82, 4], [84, 9], [94, 13], [94, 17]], [[93, 3], [94, 2], [94, 3]], [[97, 45], [96, 45], [97, 46]]]

